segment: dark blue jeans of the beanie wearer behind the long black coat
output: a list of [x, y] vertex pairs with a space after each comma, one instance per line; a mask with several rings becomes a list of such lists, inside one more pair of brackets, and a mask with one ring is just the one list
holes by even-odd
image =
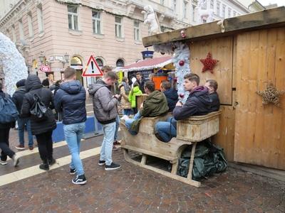
[[28, 131], [28, 146], [33, 146], [33, 134], [31, 133], [31, 121], [29, 118], [19, 118], [18, 119], [18, 134], [19, 142], [24, 146], [25, 143], [25, 125]]

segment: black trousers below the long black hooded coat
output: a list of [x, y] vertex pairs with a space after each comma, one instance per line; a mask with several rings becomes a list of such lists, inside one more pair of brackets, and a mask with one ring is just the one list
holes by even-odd
[[38, 141], [38, 152], [40, 153], [41, 160], [53, 159], [53, 140], [51, 138], [53, 131], [47, 131], [36, 135]]

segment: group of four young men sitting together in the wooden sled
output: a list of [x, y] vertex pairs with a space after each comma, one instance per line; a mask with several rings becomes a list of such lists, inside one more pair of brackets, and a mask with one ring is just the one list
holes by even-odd
[[133, 119], [124, 116], [125, 126], [132, 135], [139, 131], [140, 120], [142, 117], [169, 116], [166, 121], [159, 121], [155, 124], [155, 135], [162, 142], [169, 142], [177, 134], [177, 121], [187, 119], [190, 116], [202, 116], [212, 111], [219, 110], [219, 96], [217, 94], [217, 82], [207, 80], [204, 86], [199, 86], [199, 76], [196, 74], [185, 75], [184, 88], [189, 91], [189, 97], [185, 104], [178, 101], [177, 91], [171, 88], [168, 81], [162, 81], [160, 91], [155, 90], [152, 81], [145, 82], [145, 92], [148, 94], [145, 101], [140, 106], [140, 110]]

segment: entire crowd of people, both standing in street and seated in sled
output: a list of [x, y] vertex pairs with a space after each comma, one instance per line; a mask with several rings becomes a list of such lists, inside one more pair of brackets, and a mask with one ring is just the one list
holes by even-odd
[[[127, 77], [118, 84], [118, 75], [111, 67], [103, 67], [103, 77], [95, 84], [91, 84], [88, 93], [93, 99], [93, 110], [96, 119], [103, 126], [103, 141], [100, 150], [98, 165], [105, 170], [120, 168], [120, 164], [113, 162], [112, 151], [118, 149], [118, 129], [120, 116], [118, 106], [123, 109], [123, 120], [133, 135], [138, 133], [142, 117], [165, 115], [172, 112], [173, 117], [167, 121], [157, 122], [155, 133], [157, 138], [168, 142], [176, 136], [176, 122], [192, 115], [204, 115], [210, 111], [219, 110], [219, 97], [217, 95], [217, 82], [207, 80], [204, 86], [199, 86], [199, 76], [185, 75], [184, 87], [190, 92], [185, 104], [178, 102], [177, 91], [171, 88], [168, 81], [163, 81], [160, 90], [155, 90], [155, 83], [146, 81], [140, 72], [135, 80], [129, 83]], [[18, 123], [19, 145], [18, 150], [24, 150], [24, 131], [28, 131], [28, 148], [33, 150], [33, 136], [38, 143], [38, 152], [42, 163], [39, 168], [49, 170], [56, 163], [53, 158], [52, 133], [56, 129], [56, 119], [63, 122], [63, 133], [71, 153], [69, 165], [71, 175], [76, 175], [73, 184], [86, 184], [86, 175], [80, 158], [81, 138], [85, 130], [86, 121], [86, 89], [76, 80], [76, 70], [71, 67], [64, 71], [64, 81], [58, 81], [49, 86], [48, 79], [41, 80], [37, 75], [28, 75], [26, 80], [16, 83], [17, 90], [10, 97], [2, 91], [0, 84], [0, 102], [2, 108], [14, 108], [17, 119], [3, 119], [0, 116], [0, 148], [1, 165], [6, 165], [9, 156], [14, 166], [18, 165], [18, 155], [9, 148], [9, 131]], [[141, 106], [136, 106], [136, 96], [147, 94]], [[10, 110], [13, 111], [13, 110]], [[2, 112], [1, 112], [2, 113]], [[130, 118], [131, 115], [133, 118]], [[10, 118], [9, 117], [9, 118]]]

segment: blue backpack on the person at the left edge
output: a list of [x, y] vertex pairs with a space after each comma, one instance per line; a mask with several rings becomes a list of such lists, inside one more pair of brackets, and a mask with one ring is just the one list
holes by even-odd
[[18, 119], [19, 113], [16, 105], [10, 99], [8, 94], [0, 97], [0, 124], [9, 124]]

